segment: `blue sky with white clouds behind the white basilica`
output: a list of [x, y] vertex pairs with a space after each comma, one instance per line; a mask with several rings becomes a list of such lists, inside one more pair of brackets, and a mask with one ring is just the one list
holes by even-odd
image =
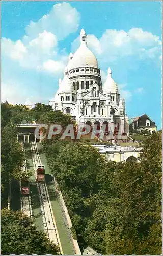
[[161, 2], [2, 2], [2, 101], [48, 103], [84, 28], [129, 117], [161, 127]]

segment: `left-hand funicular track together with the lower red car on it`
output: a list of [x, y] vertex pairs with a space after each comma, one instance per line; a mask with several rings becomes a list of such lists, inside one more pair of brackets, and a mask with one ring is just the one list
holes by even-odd
[[[24, 144], [22, 144], [23, 150], [25, 152]], [[23, 163], [23, 172], [24, 178], [20, 181], [20, 192], [21, 192], [21, 210], [32, 218], [32, 206], [31, 206], [31, 197], [30, 197], [30, 188], [29, 188], [29, 178], [28, 171], [26, 166], [26, 160]]]

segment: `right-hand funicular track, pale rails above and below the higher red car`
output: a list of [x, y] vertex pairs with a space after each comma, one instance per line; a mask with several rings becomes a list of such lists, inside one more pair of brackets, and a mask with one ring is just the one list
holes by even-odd
[[[42, 163], [38, 153], [36, 142], [31, 142], [30, 146], [31, 146], [32, 160], [33, 160], [33, 165], [35, 170], [35, 178], [37, 180], [37, 165], [42, 165]], [[55, 218], [53, 216], [53, 212], [51, 208], [51, 202], [50, 202], [47, 186], [45, 183], [37, 182], [36, 184], [39, 192], [44, 231], [47, 233], [49, 240], [55, 243], [60, 248], [60, 252], [63, 254]]]

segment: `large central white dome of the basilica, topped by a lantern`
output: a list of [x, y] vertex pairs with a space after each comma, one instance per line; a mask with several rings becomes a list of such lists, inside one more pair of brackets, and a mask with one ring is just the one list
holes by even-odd
[[86, 41], [87, 35], [84, 29], [80, 32], [80, 47], [74, 53], [73, 57], [70, 59], [68, 63], [68, 70], [78, 68], [78, 67], [87, 67], [91, 66], [94, 68], [98, 68], [98, 62], [93, 54], [93, 52], [87, 47]]

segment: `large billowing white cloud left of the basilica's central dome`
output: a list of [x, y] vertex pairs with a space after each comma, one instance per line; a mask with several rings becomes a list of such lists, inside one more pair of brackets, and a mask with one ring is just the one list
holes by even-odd
[[[65, 50], [59, 53], [58, 41], [77, 30], [79, 19], [79, 13], [70, 4], [56, 4], [38, 22], [30, 22], [22, 40], [13, 42], [2, 38], [2, 55], [28, 69], [60, 71], [61, 66], [66, 65], [68, 54]], [[49, 59], [53, 59], [53, 65]]]

